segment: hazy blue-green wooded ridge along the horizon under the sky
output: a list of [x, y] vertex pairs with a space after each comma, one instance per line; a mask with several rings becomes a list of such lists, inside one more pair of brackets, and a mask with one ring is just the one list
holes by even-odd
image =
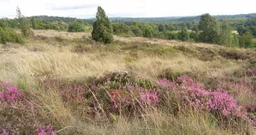
[[[59, 16], [31, 16], [37, 20], [46, 20], [50, 22], [63, 21], [66, 23], [71, 23], [76, 18], [72, 17], [59, 17]], [[28, 18], [31, 18], [28, 17]], [[241, 19], [246, 20], [252, 17], [256, 17], [256, 13], [250, 14], [240, 14], [240, 15], [221, 15], [215, 16], [218, 20], [230, 20], [230, 19]], [[112, 17], [110, 18], [113, 22], [132, 22], [132, 21], [142, 21], [142, 22], [166, 22], [166, 21], [197, 21], [200, 20], [201, 16], [174, 16], [174, 17], [152, 17], [152, 18], [127, 18], [127, 17]], [[95, 19], [84, 19], [84, 22], [92, 23]]]

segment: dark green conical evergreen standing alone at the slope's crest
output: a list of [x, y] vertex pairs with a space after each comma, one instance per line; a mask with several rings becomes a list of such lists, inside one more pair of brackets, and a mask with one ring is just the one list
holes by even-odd
[[100, 6], [98, 6], [96, 19], [91, 32], [92, 39], [104, 42], [105, 44], [111, 43], [113, 41], [112, 23], [108, 20], [108, 16], [106, 16], [104, 9]]

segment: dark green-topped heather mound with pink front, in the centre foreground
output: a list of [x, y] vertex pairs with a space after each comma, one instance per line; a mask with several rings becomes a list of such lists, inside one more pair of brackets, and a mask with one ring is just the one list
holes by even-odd
[[116, 108], [137, 112], [141, 104], [158, 104], [155, 85], [149, 80], [135, 80], [127, 71], [105, 73], [91, 82], [90, 89], [95, 97], [87, 94], [89, 100], [93, 103], [97, 98], [107, 112], [117, 112]]

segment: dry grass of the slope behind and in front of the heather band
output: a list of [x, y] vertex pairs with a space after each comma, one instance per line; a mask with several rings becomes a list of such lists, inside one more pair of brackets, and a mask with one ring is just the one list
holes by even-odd
[[[31, 91], [38, 87], [40, 89], [38, 82], [44, 80], [67, 83], [83, 81], [91, 76], [118, 70], [127, 70], [135, 73], [138, 78], [152, 81], [156, 81], [165, 69], [172, 69], [173, 73], [196, 73], [209, 80], [222, 80], [226, 77], [233, 79], [236, 72], [254, 66], [250, 59], [256, 54], [253, 50], [223, 48], [214, 44], [143, 37], [115, 37], [113, 44], [104, 45], [91, 41], [89, 34], [83, 33], [37, 30], [35, 35], [36, 38], [23, 46], [6, 44], [0, 48], [0, 80], [14, 84], [23, 80], [26, 82], [26, 90]], [[84, 35], [83, 40], [76, 39]], [[52, 109], [53, 117], [60, 123], [57, 126], [60, 134], [233, 133], [231, 127], [219, 128], [208, 115], [197, 112], [187, 112], [175, 118], [155, 111], [148, 112], [148, 116], [143, 119], [132, 121], [126, 117], [113, 116], [116, 123], [111, 127], [108, 122], [101, 126], [94, 120], [83, 123], [76, 115], [76, 110], [64, 105], [55, 87], [50, 89], [50, 93], [39, 92], [37, 98]], [[251, 130], [250, 126], [247, 128]], [[240, 130], [239, 133], [245, 131]]]

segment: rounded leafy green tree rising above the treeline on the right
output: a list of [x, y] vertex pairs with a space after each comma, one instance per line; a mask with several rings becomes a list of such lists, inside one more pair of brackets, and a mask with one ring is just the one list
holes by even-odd
[[201, 16], [201, 20], [198, 25], [200, 30], [199, 41], [206, 43], [219, 43], [219, 23], [211, 15], [204, 14]]

